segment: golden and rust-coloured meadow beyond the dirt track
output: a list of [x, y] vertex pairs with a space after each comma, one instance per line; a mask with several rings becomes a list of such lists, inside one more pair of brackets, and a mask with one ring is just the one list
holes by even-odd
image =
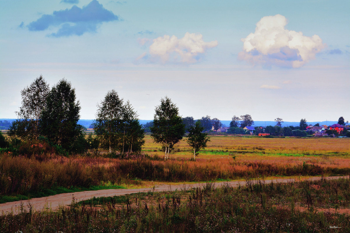
[[350, 174], [349, 140], [344, 138], [211, 136], [195, 161], [185, 139], [167, 161], [160, 145], [149, 135], [145, 140], [142, 153], [125, 158], [105, 151], [65, 157], [37, 144], [24, 146], [19, 155], [2, 153], [0, 201], [52, 195], [57, 190], [152, 187], [155, 182]]

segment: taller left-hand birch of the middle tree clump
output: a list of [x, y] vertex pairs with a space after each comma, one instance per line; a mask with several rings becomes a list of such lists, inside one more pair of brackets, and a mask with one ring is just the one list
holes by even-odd
[[94, 131], [103, 148], [109, 153], [118, 148], [121, 139], [120, 128], [122, 122], [123, 99], [113, 89], [105, 95], [103, 101], [97, 105]]

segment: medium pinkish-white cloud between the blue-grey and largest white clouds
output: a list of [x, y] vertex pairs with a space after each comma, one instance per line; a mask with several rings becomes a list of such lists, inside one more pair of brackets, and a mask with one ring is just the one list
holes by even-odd
[[190, 64], [200, 60], [207, 49], [217, 45], [217, 41], [204, 42], [202, 34], [186, 32], [180, 39], [169, 35], [153, 39], [149, 54], [152, 61]]

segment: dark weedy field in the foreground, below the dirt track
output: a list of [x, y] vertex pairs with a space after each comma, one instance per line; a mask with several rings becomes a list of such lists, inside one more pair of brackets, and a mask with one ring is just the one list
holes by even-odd
[[[4, 233], [32, 232], [349, 232], [349, 179], [288, 183], [247, 180], [237, 188], [73, 199], [58, 211], [0, 216]], [[30, 205], [29, 205], [30, 207]], [[337, 228], [336, 228], [337, 227]]]

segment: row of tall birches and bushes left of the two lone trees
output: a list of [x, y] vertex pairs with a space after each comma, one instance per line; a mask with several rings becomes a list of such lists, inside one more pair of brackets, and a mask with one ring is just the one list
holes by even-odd
[[110, 153], [137, 152], [145, 142], [137, 112], [115, 90], [107, 92], [97, 105], [93, 124], [96, 137], [90, 134], [87, 138], [85, 128], [77, 123], [81, 107], [69, 81], [62, 79], [50, 89], [40, 75], [21, 90], [21, 96], [18, 119], [8, 131], [12, 140], [45, 141], [64, 153], [83, 153], [98, 147]]

